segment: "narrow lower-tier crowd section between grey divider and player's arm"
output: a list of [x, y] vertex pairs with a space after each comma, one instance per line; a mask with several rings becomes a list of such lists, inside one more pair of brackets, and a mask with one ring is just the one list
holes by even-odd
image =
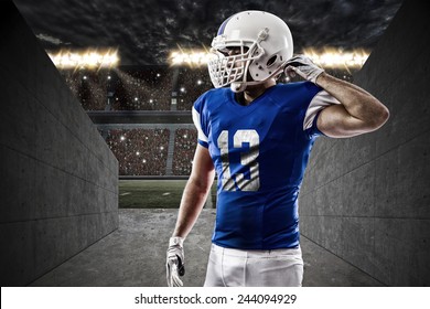
[[189, 175], [197, 142], [197, 130], [176, 129], [172, 172], [174, 175]]

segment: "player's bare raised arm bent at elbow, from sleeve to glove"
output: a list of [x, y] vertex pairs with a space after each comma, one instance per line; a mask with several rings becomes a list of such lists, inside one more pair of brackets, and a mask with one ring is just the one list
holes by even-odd
[[324, 108], [318, 118], [316, 127], [329, 137], [343, 138], [374, 131], [388, 120], [388, 108], [358, 86], [326, 73], [316, 77], [316, 85], [341, 103]]

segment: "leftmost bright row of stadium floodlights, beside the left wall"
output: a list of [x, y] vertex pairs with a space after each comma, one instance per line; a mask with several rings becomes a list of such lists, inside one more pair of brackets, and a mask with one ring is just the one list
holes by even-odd
[[118, 50], [86, 50], [86, 51], [71, 51], [60, 50], [56, 53], [49, 52], [47, 55], [52, 62], [60, 70], [69, 68], [110, 68], [119, 64]]

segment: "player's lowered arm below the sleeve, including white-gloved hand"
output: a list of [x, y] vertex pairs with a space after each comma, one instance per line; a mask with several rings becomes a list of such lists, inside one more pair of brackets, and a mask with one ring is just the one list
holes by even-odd
[[182, 286], [185, 274], [183, 243], [196, 222], [214, 182], [214, 164], [207, 148], [197, 143], [193, 168], [182, 194], [176, 226], [169, 241], [166, 279], [170, 287]]

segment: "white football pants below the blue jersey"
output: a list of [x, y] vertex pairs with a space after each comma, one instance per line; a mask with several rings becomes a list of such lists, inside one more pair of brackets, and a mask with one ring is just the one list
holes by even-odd
[[303, 259], [292, 249], [240, 251], [212, 244], [205, 287], [300, 287]]

